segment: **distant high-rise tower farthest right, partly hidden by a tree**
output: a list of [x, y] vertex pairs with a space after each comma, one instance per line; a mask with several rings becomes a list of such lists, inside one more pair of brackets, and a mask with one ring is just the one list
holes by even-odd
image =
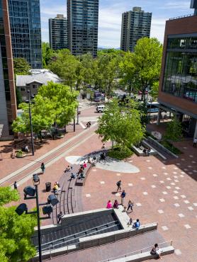
[[150, 37], [152, 13], [142, 11], [141, 7], [133, 7], [122, 15], [122, 30], [120, 49], [134, 51], [137, 40]]

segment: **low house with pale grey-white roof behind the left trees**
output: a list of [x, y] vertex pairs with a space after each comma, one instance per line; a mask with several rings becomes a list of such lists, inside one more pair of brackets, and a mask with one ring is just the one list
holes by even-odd
[[47, 82], [53, 81], [54, 83], [61, 83], [57, 74], [53, 74], [48, 69], [31, 69], [30, 75], [17, 75], [16, 87], [21, 92], [22, 100], [28, 100], [28, 90], [35, 96], [38, 93], [40, 86], [47, 85]]

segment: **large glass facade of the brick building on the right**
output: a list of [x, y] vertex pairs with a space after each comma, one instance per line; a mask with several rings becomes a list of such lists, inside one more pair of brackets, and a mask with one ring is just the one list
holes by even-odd
[[168, 38], [162, 91], [197, 103], [197, 34]]

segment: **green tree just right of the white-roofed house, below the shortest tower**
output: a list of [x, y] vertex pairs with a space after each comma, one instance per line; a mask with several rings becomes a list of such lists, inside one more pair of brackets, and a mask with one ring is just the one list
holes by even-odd
[[57, 57], [50, 62], [49, 69], [60, 76], [64, 84], [72, 90], [77, 82], [77, 69], [79, 69], [79, 59], [74, 57], [67, 49], [58, 50]]

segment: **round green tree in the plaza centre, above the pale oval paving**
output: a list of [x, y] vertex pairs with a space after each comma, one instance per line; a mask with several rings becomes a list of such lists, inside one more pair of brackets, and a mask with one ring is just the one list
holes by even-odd
[[145, 127], [140, 123], [140, 111], [134, 101], [125, 107], [118, 106], [116, 100], [108, 103], [98, 124], [96, 134], [102, 137], [102, 141], [115, 141], [120, 149], [137, 144], [145, 134]]

